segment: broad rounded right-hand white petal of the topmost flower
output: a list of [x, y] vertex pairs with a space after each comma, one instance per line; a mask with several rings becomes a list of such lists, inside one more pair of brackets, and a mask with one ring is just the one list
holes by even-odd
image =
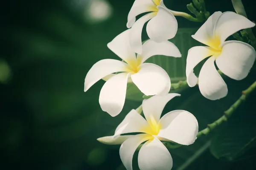
[[147, 24], [148, 37], [155, 42], [162, 42], [175, 37], [178, 23], [175, 16], [163, 6], [157, 6], [157, 16]]

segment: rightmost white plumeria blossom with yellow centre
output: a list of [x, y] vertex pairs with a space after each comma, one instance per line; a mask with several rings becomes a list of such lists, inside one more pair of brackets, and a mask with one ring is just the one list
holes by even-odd
[[[256, 58], [254, 48], [241, 41], [225, 41], [235, 32], [255, 26], [246, 17], [234, 12], [215, 12], [201, 28], [192, 35], [195, 40], [208, 45], [196, 46], [188, 51], [186, 77], [190, 87], [197, 84], [201, 94], [207, 99], [216, 100], [227, 96], [227, 85], [215, 68], [228, 77], [241, 80], [247, 77]], [[195, 66], [209, 57], [201, 68], [199, 77], [193, 73]]]

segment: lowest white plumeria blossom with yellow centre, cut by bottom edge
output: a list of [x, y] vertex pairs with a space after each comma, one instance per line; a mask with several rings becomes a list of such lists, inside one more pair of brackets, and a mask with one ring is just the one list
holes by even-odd
[[[163, 108], [175, 96], [152, 96], [144, 99], [142, 108], [145, 119], [137, 111], [131, 110], [117, 126], [114, 136], [97, 139], [104, 144], [122, 144], [120, 158], [127, 170], [132, 170], [132, 158], [137, 147], [145, 142], [139, 151], [140, 170], [170, 170], [172, 156], [161, 141], [189, 145], [195, 142], [198, 134], [198, 121], [191, 113], [176, 110], [160, 118]], [[125, 133], [140, 133], [124, 135]]]

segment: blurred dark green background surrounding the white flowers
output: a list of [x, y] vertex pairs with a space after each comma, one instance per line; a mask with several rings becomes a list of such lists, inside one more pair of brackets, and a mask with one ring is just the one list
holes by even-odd
[[[207, 10], [233, 11], [231, 0], [205, 0]], [[124, 170], [119, 146], [97, 138], [113, 135], [125, 114], [140, 101], [128, 95], [122, 113], [112, 118], [99, 106], [99, 81], [84, 93], [91, 66], [118, 57], [107, 48], [125, 31], [134, 0], [12, 0], [2, 2], [0, 56], [0, 169]], [[191, 0], [164, 0], [175, 11], [189, 12]], [[255, 20], [252, 1], [243, 0], [248, 18]], [[153, 57], [172, 82], [184, 79], [187, 50], [202, 23], [177, 17], [179, 31], [171, 40], [182, 59]], [[255, 32], [255, 30], [253, 30]], [[143, 32], [143, 40], [147, 38]], [[197, 71], [199, 71], [197, 68]], [[164, 113], [184, 109], [193, 113], [199, 130], [218, 119], [241, 91], [255, 81], [256, 66], [241, 81], [225, 77], [229, 93], [218, 101], [205, 99], [198, 87], [179, 91]], [[130, 99], [130, 100], [129, 100]], [[132, 99], [132, 100], [131, 100]], [[254, 92], [218, 129], [195, 144], [170, 150], [173, 170], [253, 170], [256, 168]], [[140, 100], [140, 99], [138, 99]], [[137, 169], [137, 153], [134, 169]]]

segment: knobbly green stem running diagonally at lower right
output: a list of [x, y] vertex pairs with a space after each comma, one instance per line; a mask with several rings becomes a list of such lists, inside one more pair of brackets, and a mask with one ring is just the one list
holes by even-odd
[[226, 122], [227, 119], [232, 115], [234, 111], [245, 101], [245, 99], [251, 94], [251, 92], [256, 88], [256, 81], [250, 85], [249, 88], [247, 88], [245, 91], [242, 91], [242, 95], [239, 97], [239, 99], [230, 106], [230, 108], [227, 111], [224, 111], [224, 115], [221, 116], [219, 119], [217, 119], [215, 122], [208, 124], [207, 128], [204, 130], [201, 130], [198, 132], [197, 137], [200, 137], [202, 135], [207, 135], [211, 130], [213, 130], [218, 125], [221, 125], [221, 123]]

